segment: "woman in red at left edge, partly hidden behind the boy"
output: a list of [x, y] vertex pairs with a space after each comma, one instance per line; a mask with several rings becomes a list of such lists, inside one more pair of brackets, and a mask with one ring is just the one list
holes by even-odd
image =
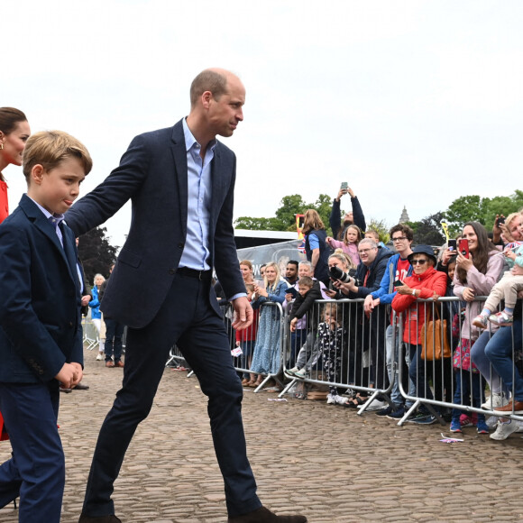
[[[27, 118], [13, 107], [0, 107], [0, 223], [9, 215], [7, 184], [2, 171], [10, 164], [22, 165], [25, 142], [31, 134]], [[0, 439], [7, 439], [0, 414]]]

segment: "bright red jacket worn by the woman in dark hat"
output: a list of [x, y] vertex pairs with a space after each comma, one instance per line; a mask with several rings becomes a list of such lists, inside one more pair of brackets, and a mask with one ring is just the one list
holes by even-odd
[[[420, 289], [418, 298], [428, 299], [436, 292], [445, 296], [446, 274], [429, 267], [423, 274], [412, 274], [405, 280], [410, 289]], [[418, 303], [417, 298], [410, 294], [396, 294], [392, 299], [392, 308], [397, 312], [404, 312], [403, 341], [408, 344], [421, 344], [421, 327], [425, 324], [425, 303]]]

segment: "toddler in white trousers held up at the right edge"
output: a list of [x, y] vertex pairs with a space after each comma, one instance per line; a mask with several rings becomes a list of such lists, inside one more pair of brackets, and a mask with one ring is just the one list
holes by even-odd
[[[518, 220], [518, 233], [523, 234], [523, 216], [515, 218]], [[473, 326], [487, 328], [487, 319], [497, 326], [511, 326], [514, 321], [514, 307], [518, 299], [518, 291], [523, 290], [523, 276], [513, 274], [512, 269], [517, 265], [523, 268], [523, 242], [513, 242], [505, 246], [503, 254], [507, 258], [510, 271], [506, 271], [494, 287], [482, 312], [473, 319]], [[501, 299], [505, 298], [505, 308], [494, 314], [496, 307], [500, 304]]]

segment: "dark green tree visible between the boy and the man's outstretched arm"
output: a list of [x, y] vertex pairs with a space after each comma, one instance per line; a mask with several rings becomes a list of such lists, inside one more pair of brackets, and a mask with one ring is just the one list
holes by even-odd
[[106, 227], [96, 227], [78, 238], [78, 257], [84, 266], [89, 286], [93, 284], [98, 272], [107, 278], [109, 267], [116, 261], [119, 247], [109, 243], [110, 238], [106, 238], [106, 232]]

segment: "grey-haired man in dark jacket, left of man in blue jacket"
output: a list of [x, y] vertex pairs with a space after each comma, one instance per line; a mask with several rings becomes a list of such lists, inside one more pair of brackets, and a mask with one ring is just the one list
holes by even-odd
[[[381, 279], [387, 269], [387, 263], [392, 255], [392, 252], [379, 249], [378, 244], [371, 238], [363, 238], [358, 244], [358, 253], [362, 261], [356, 269], [355, 280], [349, 283], [342, 283], [340, 281], [333, 282], [335, 288], [340, 289], [347, 298], [366, 298], [374, 290], [380, 288]], [[362, 353], [368, 349], [372, 353], [372, 362], [375, 371], [375, 386], [381, 389], [384, 385], [384, 364], [383, 355], [385, 353], [385, 327], [387, 325], [387, 317], [384, 313], [373, 314], [371, 317], [363, 316], [362, 304], [358, 304], [358, 313], [356, 317], [357, 325], [363, 327], [362, 345], [355, 347], [355, 361], [354, 361], [354, 381], [356, 385], [362, 375]], [[361, 339], [358, 336], [358, 339]], [[351, 378], [351, 376], [349, 376]], [[382, 406], [382, 402], [372, 403], [372, 406]]]

